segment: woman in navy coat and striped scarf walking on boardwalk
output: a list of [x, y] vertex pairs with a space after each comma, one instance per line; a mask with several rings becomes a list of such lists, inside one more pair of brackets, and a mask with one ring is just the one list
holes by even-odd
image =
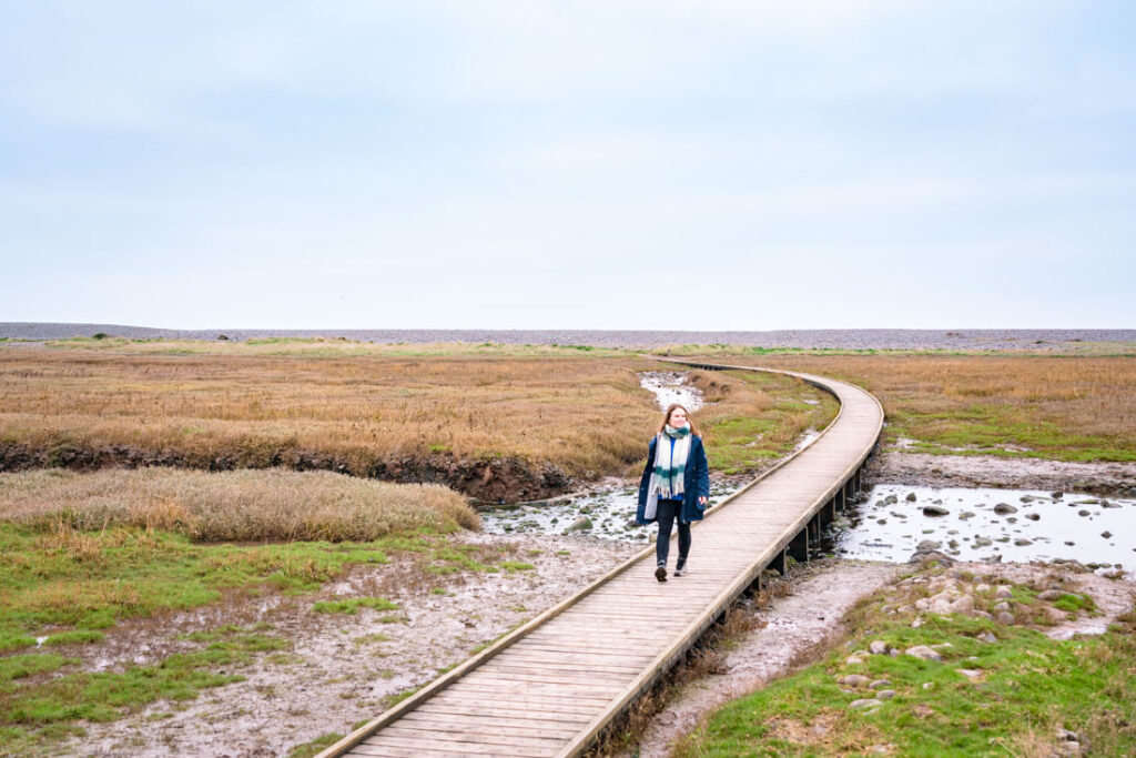
[[710, 497], [710, 469], [698, 428], [691, 424], [686, 408], [677, 402], [667, 407], [659, 433], [648, 445], [646, 466], [640, 481], [638, 509], [635, 522], [645, 525], [659, 522], [654, 543], [658, 568], [654, 577], [667, 581], [667, 555], [670, 530], [678, 522], [678, 563], [675, 576], [686, 573], [691, 552], [691, 523], [701, 520]]

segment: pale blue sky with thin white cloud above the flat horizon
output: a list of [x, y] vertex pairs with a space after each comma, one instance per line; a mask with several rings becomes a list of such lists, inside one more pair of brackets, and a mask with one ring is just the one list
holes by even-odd
[[1128, 0], [0, 0], [0, 322], [1131, 328], [1134, 39]]

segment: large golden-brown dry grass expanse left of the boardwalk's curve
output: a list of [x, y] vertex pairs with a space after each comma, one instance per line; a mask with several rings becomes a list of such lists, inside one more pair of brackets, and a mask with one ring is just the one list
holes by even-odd
[[[49, 464], [62, 463], [68, 451], [126, 447], [152, 457], [136, 463], [198, 468], [283, 465], [369, 476], [381, 461], [435, 456], [550, 461], [585, 477], [624, 474], [642, 461], [658, 424], [654, 397], [637, 373], [659, 367], [592, 355], [7, 348], [0, 350], [0, 443], [41, 451]], [[752, 415], [778, 426], [784, 409], [767, 395], [811, 392], [790, 380], [715, 377], [700, 380], [721, 400], [700, 417], [708, 427]], [[796, 427], [785, 434], [795, 438]]]

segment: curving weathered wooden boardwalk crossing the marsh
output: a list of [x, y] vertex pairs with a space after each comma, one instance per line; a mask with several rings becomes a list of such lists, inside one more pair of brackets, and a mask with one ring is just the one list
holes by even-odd
[[859, 485], [884, 420], [879, 402], [844, 382], [780, 373], [836, 395], [840, 414], [812, 444], [694, 525], [687, 575], [657, 582], [652, 545], [318, 758], [535, 758], [587, 748], [765, 568], [784, 572], [786, 553], [804, 559]]

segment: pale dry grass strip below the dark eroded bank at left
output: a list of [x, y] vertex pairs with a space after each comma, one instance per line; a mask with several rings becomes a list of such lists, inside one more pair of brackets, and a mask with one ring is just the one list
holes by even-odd
[[478, 528], [460, 494], [329, 472], [169, 468], [0, 475], [0, 520], [42, 530], [72, 556], [101, 555], [92, 532], [161, 530], [206, 542], [370, 541], [420, 528]]

